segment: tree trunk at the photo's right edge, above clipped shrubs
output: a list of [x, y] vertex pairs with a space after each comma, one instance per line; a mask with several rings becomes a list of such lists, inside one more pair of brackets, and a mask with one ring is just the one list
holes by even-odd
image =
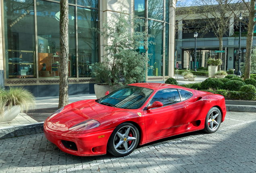
[[251, 72], [251, 58], [252, 58], [252, 40], [253, 40], [253, 31], [254, 31], [254, 9], [255, 9], [255, 0], [251, 1], [250, 4], [250, 14], [248, 21], [248, 36], [246, 40], [246, 64], [244, 70], [244, 79], [250, 78]]

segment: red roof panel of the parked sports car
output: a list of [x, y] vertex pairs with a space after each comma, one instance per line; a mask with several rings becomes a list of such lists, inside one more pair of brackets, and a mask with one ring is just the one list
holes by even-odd
[[184, 87], [180, 87], [178, 85], [173, 84], [163, 84], [163, 83], [151, 83], [151, 82], [145, 82], [145, 83], [134, 83], [134, 84], [128, 84], [135, 87], [144, 87], [148, 89], [165, 89], [165, 88], [177, 88], [177, 89], [184, 89]]

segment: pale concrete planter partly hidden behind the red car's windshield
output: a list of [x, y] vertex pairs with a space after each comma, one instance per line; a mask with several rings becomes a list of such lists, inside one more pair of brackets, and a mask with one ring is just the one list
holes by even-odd
[[120, 86], [110, 86], [107, 85], [106, 83], [99, 83], [99, 84], [94, 84], [94, 91], [97, 99], [104, 97], [105, 93], [109, 91], [109, 93], [115, 91], [116, 89], [119, 89]]

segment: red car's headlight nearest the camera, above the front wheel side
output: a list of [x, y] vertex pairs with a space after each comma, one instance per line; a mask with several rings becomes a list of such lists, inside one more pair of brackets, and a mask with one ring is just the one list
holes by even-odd
[[78, 123], [77, 125], [74, 125], [73, 127], [69, 128], [70, 131], [85, 131], [89, 129], [94, 129], [96, 127], [99, 127], [100, 123], [97, 120], [87, 120], [83, 121], [82, 123]]

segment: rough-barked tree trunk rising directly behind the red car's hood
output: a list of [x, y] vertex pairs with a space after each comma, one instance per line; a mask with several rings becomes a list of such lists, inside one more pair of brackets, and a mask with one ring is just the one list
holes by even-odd
[[60, 93], [58, 108], [68, 105], [68, 0], [60, 0]]

